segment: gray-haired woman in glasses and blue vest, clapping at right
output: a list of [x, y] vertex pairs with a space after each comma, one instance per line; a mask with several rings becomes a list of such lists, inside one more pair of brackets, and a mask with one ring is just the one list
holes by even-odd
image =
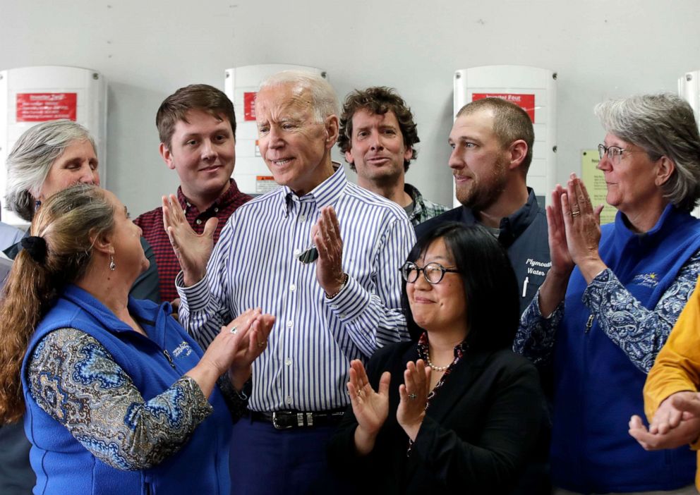
[[554, 376], [556, 493], [693, 493], [694, 453], [646, 452], [627, 434], [656, 354], [700, 271], [700, 135], [687, 102], [655, 94], [604, 102], [598, 146], [617, 207], [600, 225], [572, 174], [547, 207], [552, 267], [514, 348]]

